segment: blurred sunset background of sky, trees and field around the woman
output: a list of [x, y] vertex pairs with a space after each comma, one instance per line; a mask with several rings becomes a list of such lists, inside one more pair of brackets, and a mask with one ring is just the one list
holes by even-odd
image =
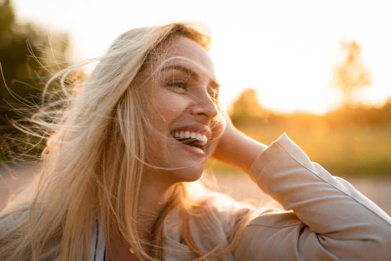
[[[383, 0], [0, 0], [0, 209], [33, 177], [14, 162], [39, 154], [27, 145], [39, 140], [12, 122], [42, 102], [46, 69], [98, 57], [128, 29], [196, 21], [211, 30], [220, 97], [241, 131], [265, 144], [286, 132], [390, 214], [390, 10]], [[264, 197], [235, 169], [207, 170], [237, 199]]]

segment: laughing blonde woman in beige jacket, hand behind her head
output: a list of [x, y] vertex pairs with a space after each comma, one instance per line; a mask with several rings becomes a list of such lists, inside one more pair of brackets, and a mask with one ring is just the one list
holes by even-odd
[[[208, 42], [169, 24], [112, 44], [47, 124], [39, 178], [2, 212], [2, 260], [391, 259], [387, 214], [286, 135], [267, 147], [222, 116]], [[287, 210], [191, 189], [210, 156]]]

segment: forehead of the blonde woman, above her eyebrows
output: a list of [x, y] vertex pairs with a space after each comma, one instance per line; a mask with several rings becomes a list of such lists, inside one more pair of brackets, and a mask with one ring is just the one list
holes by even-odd
[[215, 78], [214, 65], [207, 51], [187, 37], [176, 37], [163, 44], [157, 50], [157, 56], [159, 60], [157, 66], [160, 68], [179, 65], [199, 75]]

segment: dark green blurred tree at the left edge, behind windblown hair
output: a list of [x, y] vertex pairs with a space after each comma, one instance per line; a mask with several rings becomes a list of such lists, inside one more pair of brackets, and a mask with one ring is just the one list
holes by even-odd
[[[47, 68], [58, 66], [49, 60], [59, 58], [68, 47], [66, 34], [55, 33], [55, 41], [36, 26], [16, 21], [10, 0], [0, 0], [0, 144], [2, 160], [15, 154], [34, 154], [26, 151], [23, 141], [27, 137], [11, 124], [20, 119], [22, 108], [33, 108], [41, 102], [41, 80]], [[48, 47], [55, 52], [46, 52]]]

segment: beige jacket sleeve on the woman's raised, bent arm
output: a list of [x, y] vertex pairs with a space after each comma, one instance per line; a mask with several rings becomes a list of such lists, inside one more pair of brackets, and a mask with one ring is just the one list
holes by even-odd
[[250, 176], [285, 210], [264, 211], [248, 224], [236, 260], [391, 260], [390, 216], [285, 134]]

